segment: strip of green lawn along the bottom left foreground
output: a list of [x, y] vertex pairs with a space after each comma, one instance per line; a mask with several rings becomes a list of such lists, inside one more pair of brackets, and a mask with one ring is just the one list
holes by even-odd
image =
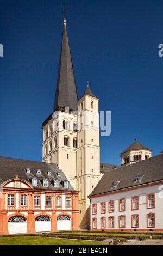
[[14, 236], [0, 237], [0, 245], [101, 245], [101, 242], [51, 237]]

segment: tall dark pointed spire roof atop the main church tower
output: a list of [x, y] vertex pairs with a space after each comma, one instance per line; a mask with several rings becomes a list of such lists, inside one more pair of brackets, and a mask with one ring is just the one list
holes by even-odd
[[59, 107], [69, 107], [78, 111], [78, 94], [74, 77], [70, 47], [68, 43], [66, 17], [64, 16], [64, 31], [58, 69], [57, 87], [55, 91], [54, 111]]

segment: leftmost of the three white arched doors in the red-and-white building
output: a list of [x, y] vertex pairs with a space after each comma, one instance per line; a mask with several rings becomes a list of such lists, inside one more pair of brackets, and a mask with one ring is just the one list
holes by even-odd
[[8, 222], [9, 234], [27, 233], [27, 220], [21, 216], [9, 218]]

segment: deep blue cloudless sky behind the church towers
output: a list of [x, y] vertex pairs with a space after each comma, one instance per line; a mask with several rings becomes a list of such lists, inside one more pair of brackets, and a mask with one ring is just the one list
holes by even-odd
[[41, 123], [52, 113], [63, 9], [78, 94], [90, 81], [99, 109], [111, 111], [101, 161], [120, 164], [134, 137], [163, 150], [162, 1], [0, 2], [0, 155], [41, 161]]

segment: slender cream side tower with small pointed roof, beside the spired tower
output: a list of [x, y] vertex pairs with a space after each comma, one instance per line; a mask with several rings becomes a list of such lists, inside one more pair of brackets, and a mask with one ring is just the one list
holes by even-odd
[[99, 114], [98, 98], [89, 84], [78, 101], [78, 149], [77, 190], [79, 191], [80, 229], [89, 228], [89, 205], [87, 196], [101, 179], [99, 160]]

